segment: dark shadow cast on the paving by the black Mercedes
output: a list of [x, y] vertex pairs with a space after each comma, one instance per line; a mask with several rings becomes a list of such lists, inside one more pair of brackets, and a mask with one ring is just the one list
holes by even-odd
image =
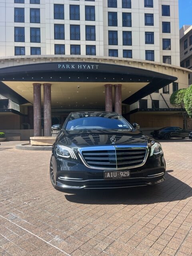
[[[165, 174], [165, 182], [155, 186], [119, 189], [93, 189], [65, 191], [66, 200], [78, 204], [154, 204], [185, 200], [192, 196], [192, 188], [173, 177], [173, 170]], [[72, 194], [70, 194], [72, 193]]]

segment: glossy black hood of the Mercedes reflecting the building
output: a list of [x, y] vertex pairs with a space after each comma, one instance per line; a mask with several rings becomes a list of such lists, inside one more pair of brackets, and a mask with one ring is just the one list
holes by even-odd
[[[111, 137], [115, 142], [111, 142]], [[154, 140], [142, 134], [142, 132], [132, 130], [62, 130], [57, 138], [56, 144], [81, 148], [88, 146], [105, 145], [134, 145], [147, 146], [149, 140]]]

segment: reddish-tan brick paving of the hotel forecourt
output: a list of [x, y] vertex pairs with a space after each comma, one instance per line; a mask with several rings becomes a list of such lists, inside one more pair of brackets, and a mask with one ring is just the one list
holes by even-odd
[[[20, 142], [19, 142], [20, 143]], [[0, 255], [192, 255], [192, 142], [162, 141], [154, 187], [58, 192], [51, 152], [0, 146]]]

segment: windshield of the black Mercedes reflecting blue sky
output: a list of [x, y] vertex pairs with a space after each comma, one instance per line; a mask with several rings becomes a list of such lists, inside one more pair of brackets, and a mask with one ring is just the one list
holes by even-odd
[[74, 113], [66, 125], [66, 130], [89, 129], [132, 129], [132, 126], [116, 113]]

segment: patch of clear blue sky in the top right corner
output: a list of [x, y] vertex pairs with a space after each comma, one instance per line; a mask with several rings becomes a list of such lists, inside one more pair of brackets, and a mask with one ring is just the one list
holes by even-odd
[[179, 0], [179, 28], [192, 25], [192, 0]]

